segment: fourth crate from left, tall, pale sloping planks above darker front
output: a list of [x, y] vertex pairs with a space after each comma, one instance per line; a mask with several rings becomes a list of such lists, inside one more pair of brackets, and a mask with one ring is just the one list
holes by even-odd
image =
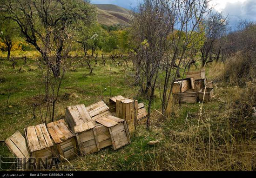
[[100, 151], [95, 123], [84, 105], [68, 106], [65, 118], [76, 135], [77, 144], [82, 154]]

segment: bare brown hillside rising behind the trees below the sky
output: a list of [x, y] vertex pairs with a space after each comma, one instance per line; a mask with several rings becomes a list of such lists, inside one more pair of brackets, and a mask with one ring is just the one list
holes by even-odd
[[129, 26], [130, 14], [125, 8], [112, 4], [94, 4], [98, 10], [98, 22], [102, 25], [125, 25]]

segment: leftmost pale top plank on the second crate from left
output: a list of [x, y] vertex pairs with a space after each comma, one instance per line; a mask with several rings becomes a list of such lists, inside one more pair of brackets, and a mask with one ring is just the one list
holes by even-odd
[[27, 127], [27, 139], [28, 139], [29, 149], [31, 152], [41, 149], [34, 126]]

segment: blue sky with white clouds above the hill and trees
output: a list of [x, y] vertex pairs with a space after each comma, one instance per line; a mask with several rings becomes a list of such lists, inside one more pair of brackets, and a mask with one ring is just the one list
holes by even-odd
[[[136, 7], [139, 0], [91, 0], [94, 4], [115, 4], [127, 9]], [[212, 7], [224, 16], [228, 15], [229, 26], [235, 27], [240, 20], [256, 22], [256, 0], [212, 0]]]

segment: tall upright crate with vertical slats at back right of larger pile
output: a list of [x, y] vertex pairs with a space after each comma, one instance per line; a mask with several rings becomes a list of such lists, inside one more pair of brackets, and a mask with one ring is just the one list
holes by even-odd
[[138, 101], [130, 98], [116, 100], [116, 117], [126, 120], [129, 132], [135, 132], [138, 116]]

